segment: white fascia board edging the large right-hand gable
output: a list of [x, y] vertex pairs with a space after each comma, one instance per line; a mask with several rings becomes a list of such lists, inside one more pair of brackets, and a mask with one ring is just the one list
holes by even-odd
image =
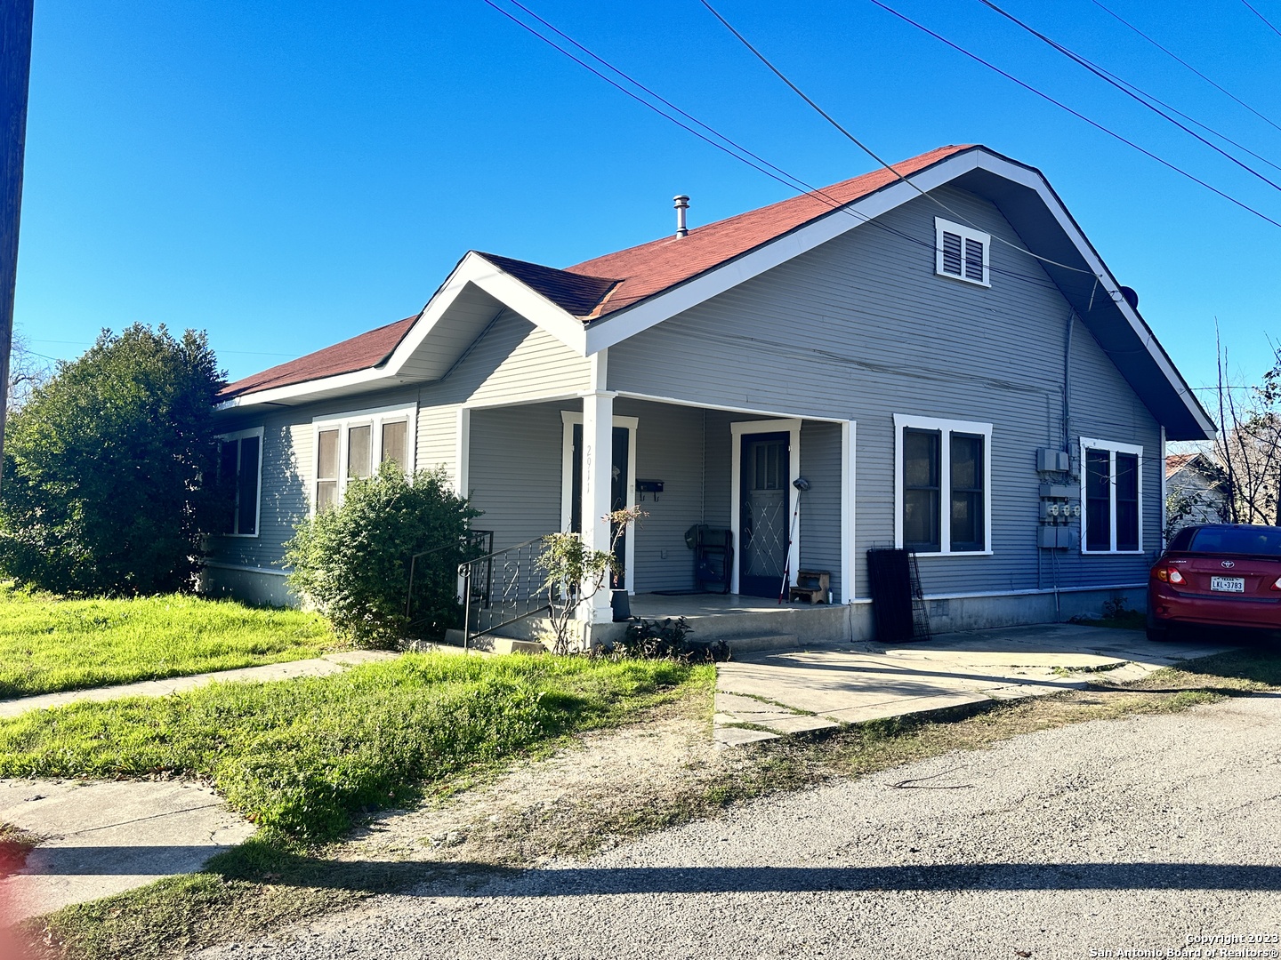
[[[1054, 216], [1059, 228], [1067, 234], [1067, 238], [1085, 260], [1086, 266], [1095, 276], [1100, 278], [1104, 287], [1109, 291], [1120, 291], [1121, 284], [1112, 276], [1112, 273], [1099, 259], [1090, 242], [1085, 239], [1085, 236], [1059, 202], [1054, 191], [1050, 189], [1044, 177], [1022, 164], [1016, 164], [986, 150], [967, 150], [963, 154], [942, 160], [925, 170], [908, 174], [911, 184], [898, 180], [876, 193], [854, 201], [845, 207], [851, 211], [849, 214], [833, 210], [830, 214], [825, 214], [820, 219], [779, 237], [776, 241], [766, 243], [737, 260], [731, 260], [724, 266], [708, 270], [688, 283], [642, 301], [634, 307], [628, 307], [612, 317], [596, 321], [587, 329], [587, 353], [594, 353], [598, 349], [605, 349], [615, 343], [635, 337], [638, 333], [648, 330], [651, 326], [676, 314], [696, 307], [719, 293], [724, 293], [766, 270], [787, 262], [792, 257], [799, 256], [843, 233], [861, 227], [867, 220], [881, 216], [915, 200], [921, 196], [921, 192], [929, 193], [931, 189], [936, 189], [977, 169], [988, 170], [1035, 191], [1047, 210]], [[1143, 343], [1148, 355], [1155, 362], [1157, 369], [1170, 381], [1170, 385], [1179, 394], [1187, 411], [1209, 436], [1214, 436], [1213, 422], [1200, 410], [1200, 404], [1196, 403], [1187, 384], [1184, 383], [1182, 376], [1170, 362], [1170, 358], [1166, 357], [1155, 337], [1148, 330], [1143, 320], [1139, 319], [1139, 314], [1121, 297], [1120, 292], [1109, 294], [1109, 298], [1116, 303], [1121, 315], [1130, 324], [1135, 337]]]

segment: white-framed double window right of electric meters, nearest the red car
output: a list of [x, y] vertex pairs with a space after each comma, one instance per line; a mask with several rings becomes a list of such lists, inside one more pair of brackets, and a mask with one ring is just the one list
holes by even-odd
[[1143, 547], [1143, 447], [1081, 438], [1084, 553], [1139, 553]]

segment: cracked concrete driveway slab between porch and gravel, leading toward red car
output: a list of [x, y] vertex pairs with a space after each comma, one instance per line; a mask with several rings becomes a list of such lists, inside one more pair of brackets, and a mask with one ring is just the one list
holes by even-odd
[[[1152, 643], [1143, 632], [1044, 623], [885, 646], [844, 644], [749, 655], [716, 668], [715, 736], [737, 745], [785, 733], [1044, 696], [1108, 680], [1139, 680], [1182, 659], [1230, 649]], [[751, 724], [751, 727], [735, 724]]]

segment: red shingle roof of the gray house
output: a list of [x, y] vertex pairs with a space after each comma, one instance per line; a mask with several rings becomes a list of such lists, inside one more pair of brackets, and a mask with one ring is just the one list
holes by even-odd
[[[895, 164], [894, 169], [904, 175], [917, 173], [970, 148], [970, 145], [939, 147]], [[897, 179], [886, 169], [874, 170], [819, 191], [822, 196], [803, 193], [726, 220], [696, 227], [687, 237], [664, 237], [564, 270], [492, 253], [480, 256], [547, 297], [565, 312], [591, 323], [690, 280], [830, 214], [831, 201], [848, 204], [888, 187]], [[224, 387], [218, 396], [225, 401], [246, 393], [378, 366], [391, 356], [416, 319], [411, 316], [379, 326], [333, 347], [246, 376]]]

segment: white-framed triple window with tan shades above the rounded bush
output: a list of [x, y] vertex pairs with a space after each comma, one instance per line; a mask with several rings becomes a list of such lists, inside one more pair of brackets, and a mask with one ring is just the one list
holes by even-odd
[[383, 463], [395, 462], [412, 474], [416, 412], [414, 406], [379, 407], [316, 417], [314, 508], [337, 506], [348, 483], [373, 476]]

